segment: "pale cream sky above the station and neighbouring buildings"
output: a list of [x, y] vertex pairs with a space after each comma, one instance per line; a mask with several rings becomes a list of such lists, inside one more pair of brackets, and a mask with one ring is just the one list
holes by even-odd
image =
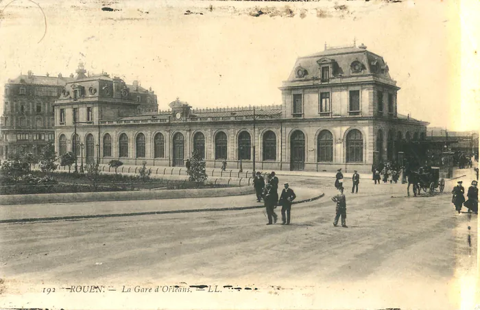
[[[160, 110], [177, 97], [193, 108], [281, 104], [297, 57], [355, 39], [387, 62], [398, 112], [475, 129], [478, 15], [446, 2], [39, 0], [40, 10], [18, 0], [2, 14], [0, 83], [28, 70], [68, 76], [82, 61], [89, 73], [152, 87]], [[251, 16], [258, 10], [267, 14]]]

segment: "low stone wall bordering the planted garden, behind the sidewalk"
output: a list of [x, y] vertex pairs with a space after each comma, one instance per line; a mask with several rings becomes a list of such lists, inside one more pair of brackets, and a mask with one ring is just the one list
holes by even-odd
[[226, 187], [219, 189], [176, 189], [158, 191], [112, 191], [93, 193], [47, 193], [30, 195], [2, 195], [0, 205], [48, 204], [93, 201], [154, 200], [173, 198], [206, 198], [248, 195], [252, 187]]

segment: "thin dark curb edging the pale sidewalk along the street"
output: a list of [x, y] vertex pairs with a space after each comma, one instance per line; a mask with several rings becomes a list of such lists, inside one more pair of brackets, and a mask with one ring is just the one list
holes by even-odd
[[[321, 193], [313, 198], [299, 200], [292, 204], [302, 204], [304, 202], [312, 202], [324, 197], [325, 193]], [[197, 213], [197, 212], [215, 212], [215, 211], [241, 211], [253, 208], [263, 208], [263, 205], [256, 206], [234, 206], [230, 208], [204, 208], [204, 209], [192, 209], [192, 210], [170, 210], [170, 211], [149, 211], [149, 212], [135, 212], [135, 213], [115, 213], [115, 214], [97, 214], [97, 215], [72, 215], [62, 217], [37, 217], [27, 219], [1, 219], [0, 224], [6, 223], [25, 223], [25, 222], [41, 222], [41, 221], [59, 221], [59, 220], [71, 220], [71, 219], [93, 219], [102, 217], [127, 217], [127, 216], [140, 216], [140, 215], [159, 215], [159, 214], [176, 214], [176, 213]]]

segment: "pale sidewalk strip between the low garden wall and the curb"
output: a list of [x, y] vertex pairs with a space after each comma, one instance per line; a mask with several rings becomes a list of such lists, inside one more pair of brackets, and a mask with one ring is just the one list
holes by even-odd
[[[322, 197], [323, 193], [308, 188], [298, 188], [296, 203]], [[279, 195], [281, 190], [279, 189]], [[205, 211], [233, 211], [262, 208], [252, 194], [223, 198], [181, 198], [165, 200], [130, 200], [109, 202], [71, 202], [69, 204], [22, 204], [0, 206], [0, 223], [36, 222], [59, 219], [85, 219], [95, 217], [121, 217], [165, 213]]]

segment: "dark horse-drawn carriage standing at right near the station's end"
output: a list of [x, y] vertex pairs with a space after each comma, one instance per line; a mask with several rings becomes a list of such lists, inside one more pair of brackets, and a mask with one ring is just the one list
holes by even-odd
[[[440, 178], [440, 167], [430, 167], [430, 169], [420, 168], [416, 172], [409, 174], [409, 187], [413, 184], [413, 193], [420, 195], [420, 191], [429, 192], [430, 195], [438, 189], [440, 193], [444, 191], [445, 180]], [[407, 189], [408, 192], [408, 189]]]

